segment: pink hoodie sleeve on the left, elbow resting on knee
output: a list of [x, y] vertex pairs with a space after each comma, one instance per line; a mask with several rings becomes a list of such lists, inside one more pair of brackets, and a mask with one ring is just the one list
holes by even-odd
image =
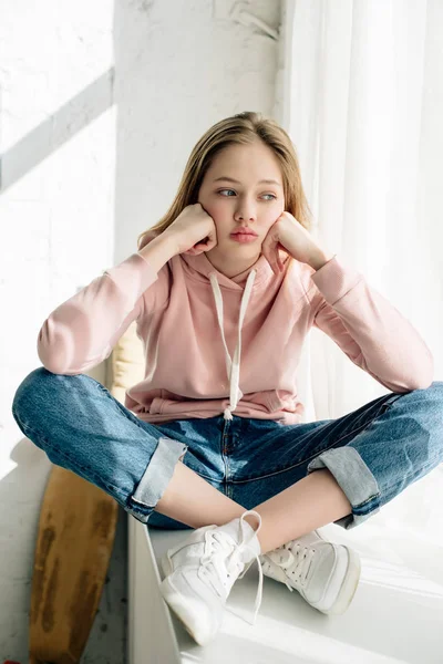
[[[48, 371], [73, 375], [109, 357], [130, 324], [143, 313], [143, 293], [158, 279], [154, 268], [133, 253], [104, 270], [89, 286], [60, 304], [38, 336], [39, 357]], [[148, 301], [154, 303], [155, 288]]]

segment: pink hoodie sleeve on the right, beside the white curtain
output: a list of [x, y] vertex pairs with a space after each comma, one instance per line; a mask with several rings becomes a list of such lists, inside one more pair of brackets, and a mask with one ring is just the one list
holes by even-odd
[[[392, 392], [429, 387], [434, 362], [412, 324], [337, 255], [311, 273], [313, 325]], [[308, 295], [309, 297], [309, 295]]]

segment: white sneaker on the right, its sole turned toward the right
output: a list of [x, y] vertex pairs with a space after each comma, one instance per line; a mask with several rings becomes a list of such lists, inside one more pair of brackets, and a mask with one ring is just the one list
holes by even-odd
[[317, 530], [260, 556], [264, 574], [297, 590], [322, 613], [344, 613], [360, 579], [360, 558]]

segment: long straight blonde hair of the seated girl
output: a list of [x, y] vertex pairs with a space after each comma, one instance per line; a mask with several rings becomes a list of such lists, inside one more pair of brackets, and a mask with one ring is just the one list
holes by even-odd
[[216, 123], [197, 142], [169, 209], [155, 226], [138, 236], [138, 250], [171, 226], [185, 207], [198, 203], [203, 178], [219, 152], [229, 145], [253, 143], [257, 137], [271, 148], [279, 160], [285, 209], [309, 230], [311, 211], [301, 186], [300, 167], [290, 137], [274, 120], [245, 111]]

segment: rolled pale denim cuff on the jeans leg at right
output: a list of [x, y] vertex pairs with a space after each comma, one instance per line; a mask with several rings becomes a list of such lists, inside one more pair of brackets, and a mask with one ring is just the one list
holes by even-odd
[[379, 485], [354, 447], [323, 452], [309, 464], [308, 475], [320, 468], [328, 468], [333, 475], [352, 507], [352, 513], [334, 523], [351, 530], [380, 511]]

